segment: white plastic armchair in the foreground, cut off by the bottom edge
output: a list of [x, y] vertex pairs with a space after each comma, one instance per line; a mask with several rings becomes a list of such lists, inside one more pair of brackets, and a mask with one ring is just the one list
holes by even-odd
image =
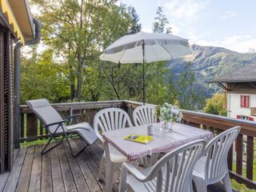
[[119, 192], [133, 191], [192, 191], [194, 164], [204, 151], [205, 140], [189, 142], [170, 151], [153, 166], [137, 170], [128, 162], [122, 163]]

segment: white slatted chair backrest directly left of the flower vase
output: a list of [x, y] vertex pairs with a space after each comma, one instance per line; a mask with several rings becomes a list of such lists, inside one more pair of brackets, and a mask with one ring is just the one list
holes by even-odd
[[134, 125], [142, 126], [157, 122], [154, 108], [154, 106], [138, 106], [133, 113]]

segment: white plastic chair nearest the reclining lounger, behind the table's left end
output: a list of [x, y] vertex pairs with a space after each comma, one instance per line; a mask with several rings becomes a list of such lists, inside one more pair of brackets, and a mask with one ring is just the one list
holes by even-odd
[[[102, 132], [109, 130], [119, 130], [126, 127], [131, 127], [129, 115], [126, 111], [118, 108], [108, 108], [100, 110], [94, 117], [94, 130], [98, 138], [104, 142], [102, 135], [98, 132], [98, 129]], [[98, 174], [99, 179], [104, 179], [104, 172], [106, 172], [106, 191], [111, 191], [113, 185], [114, 173], [121, 167], [122, 162], [126, 162], [127, 158], [121, 154], [114, 146], [105, 144], [105, 153], [102, 155], [102, 161]], [[106, 164], [106, 171], [104, 166]]]

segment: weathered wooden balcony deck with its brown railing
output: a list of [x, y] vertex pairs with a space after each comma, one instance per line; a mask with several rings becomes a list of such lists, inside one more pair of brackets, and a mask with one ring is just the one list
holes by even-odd
[[[110, 102], [78, 102], [61, 103], [53, 106], [63, 117], [70, 114], [82, 114], [80, 120], [92, 122], [98, 110], [107, 107], [118, 107], [126, 110], [132, 118], [133, 110], [142, 105], [139, 102], [110, 101]], [[254, 138], [256, 138], [256, 123], [239, 119], [226, 118], [212, 114], [203, 114], [183, 110], [184, 122], [198, 129], [207, 129], [215, 135], [232, 126], [241, 126], [235, 146], [229, 152], [228, 165], [230, 178], [256, 189], [254, 177]], [[22, 147], [16, 151], [13, 170], [0, 174], [0, 191], [102, 191], [104, 182], [98, 182], [99, 163], [103, 154], [101, 142], [88, 146], [77, 158], [73, 158], [66, 142], [50, 153], [41, 155], [43, 139], [49, 137], [42, 128], [42, 122], [32, 114], [27, 106], [21, 106], [19, 142], [42, 144]], [[243, 142], [246, 141], [246, 153]], [[23, 145], [23, 144], [22, 144]], [[71, 145], [78, 148], [81, 142], [72, 139]], [[246, 159], [246, 160], [244, 160]], [[118, 189], [119, 174], [115, 175], [115, 189]], [[209, 186], [208, 191], [225, 191], [222, 183]], [[235, 190], [234, 190], [235, 191]]]

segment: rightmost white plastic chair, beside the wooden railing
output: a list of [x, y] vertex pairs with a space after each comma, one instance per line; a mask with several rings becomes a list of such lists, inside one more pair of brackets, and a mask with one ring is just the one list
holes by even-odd
[[223, 182], [226, 191], [232, 191], [227, 154], [240, 129], [236, 126], [226, 130], [207, 144], [204, 155], [198, 159], [193, 170], [193, 181], [198, 192], [207, 191], [208, 185], [219, 181]]

